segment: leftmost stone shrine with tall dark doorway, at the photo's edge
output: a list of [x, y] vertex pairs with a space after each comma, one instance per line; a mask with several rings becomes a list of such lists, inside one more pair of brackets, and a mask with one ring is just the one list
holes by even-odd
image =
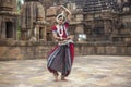
[[0, 0], [0, 39], [16, 40], [19, 13], [16, 0]]

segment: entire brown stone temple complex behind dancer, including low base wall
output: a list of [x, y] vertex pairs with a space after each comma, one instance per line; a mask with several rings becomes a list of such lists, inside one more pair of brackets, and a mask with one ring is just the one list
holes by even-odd
[[51, 26], [61, 4], [72, 13], [75, 55], [131, 55], [130, 0], [51, 1], [0, 0], [0, 60], [46, 58], [56, 46]]

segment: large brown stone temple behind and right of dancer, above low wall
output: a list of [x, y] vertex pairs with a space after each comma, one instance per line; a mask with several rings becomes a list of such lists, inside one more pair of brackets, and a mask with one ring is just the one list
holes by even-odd
[[[59, 3], [61, 2], [57, 2], [58, 5]], [[75, 40], [81, 40], [79, 35], [84, 34], [87, 42], [131, 41], [129, 0], [67, 0], [64, 5], [72, 12], [70, 34], [75, 36]], [[47, 21], [55, 21], [56, 10], [57, 5], [47, 9]]]

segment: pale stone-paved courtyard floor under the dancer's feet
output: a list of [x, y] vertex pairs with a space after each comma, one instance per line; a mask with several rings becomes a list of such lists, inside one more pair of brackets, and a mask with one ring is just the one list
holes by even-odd
[[0, 62], [0, 87], [131, 87], [131, 57], [75, 57], [68, 82], [55, 82], [47, 61]]

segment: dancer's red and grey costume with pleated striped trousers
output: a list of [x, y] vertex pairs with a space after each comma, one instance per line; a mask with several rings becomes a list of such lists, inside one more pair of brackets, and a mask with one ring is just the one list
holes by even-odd
[[[63, 25], [62, 37], [68, 37], [69, 24]], [[53, 26], [52, 32], [58, 34], [58, 27]], [[73, 41], [68, 41], [66, 44], [58, 44], [53, 50], [48, 55], [47, 67], [51, 73], [61, 72], [62, 75], [68, 76], [71, 72], [72, 63], [74, 60], [74, 44]]]

